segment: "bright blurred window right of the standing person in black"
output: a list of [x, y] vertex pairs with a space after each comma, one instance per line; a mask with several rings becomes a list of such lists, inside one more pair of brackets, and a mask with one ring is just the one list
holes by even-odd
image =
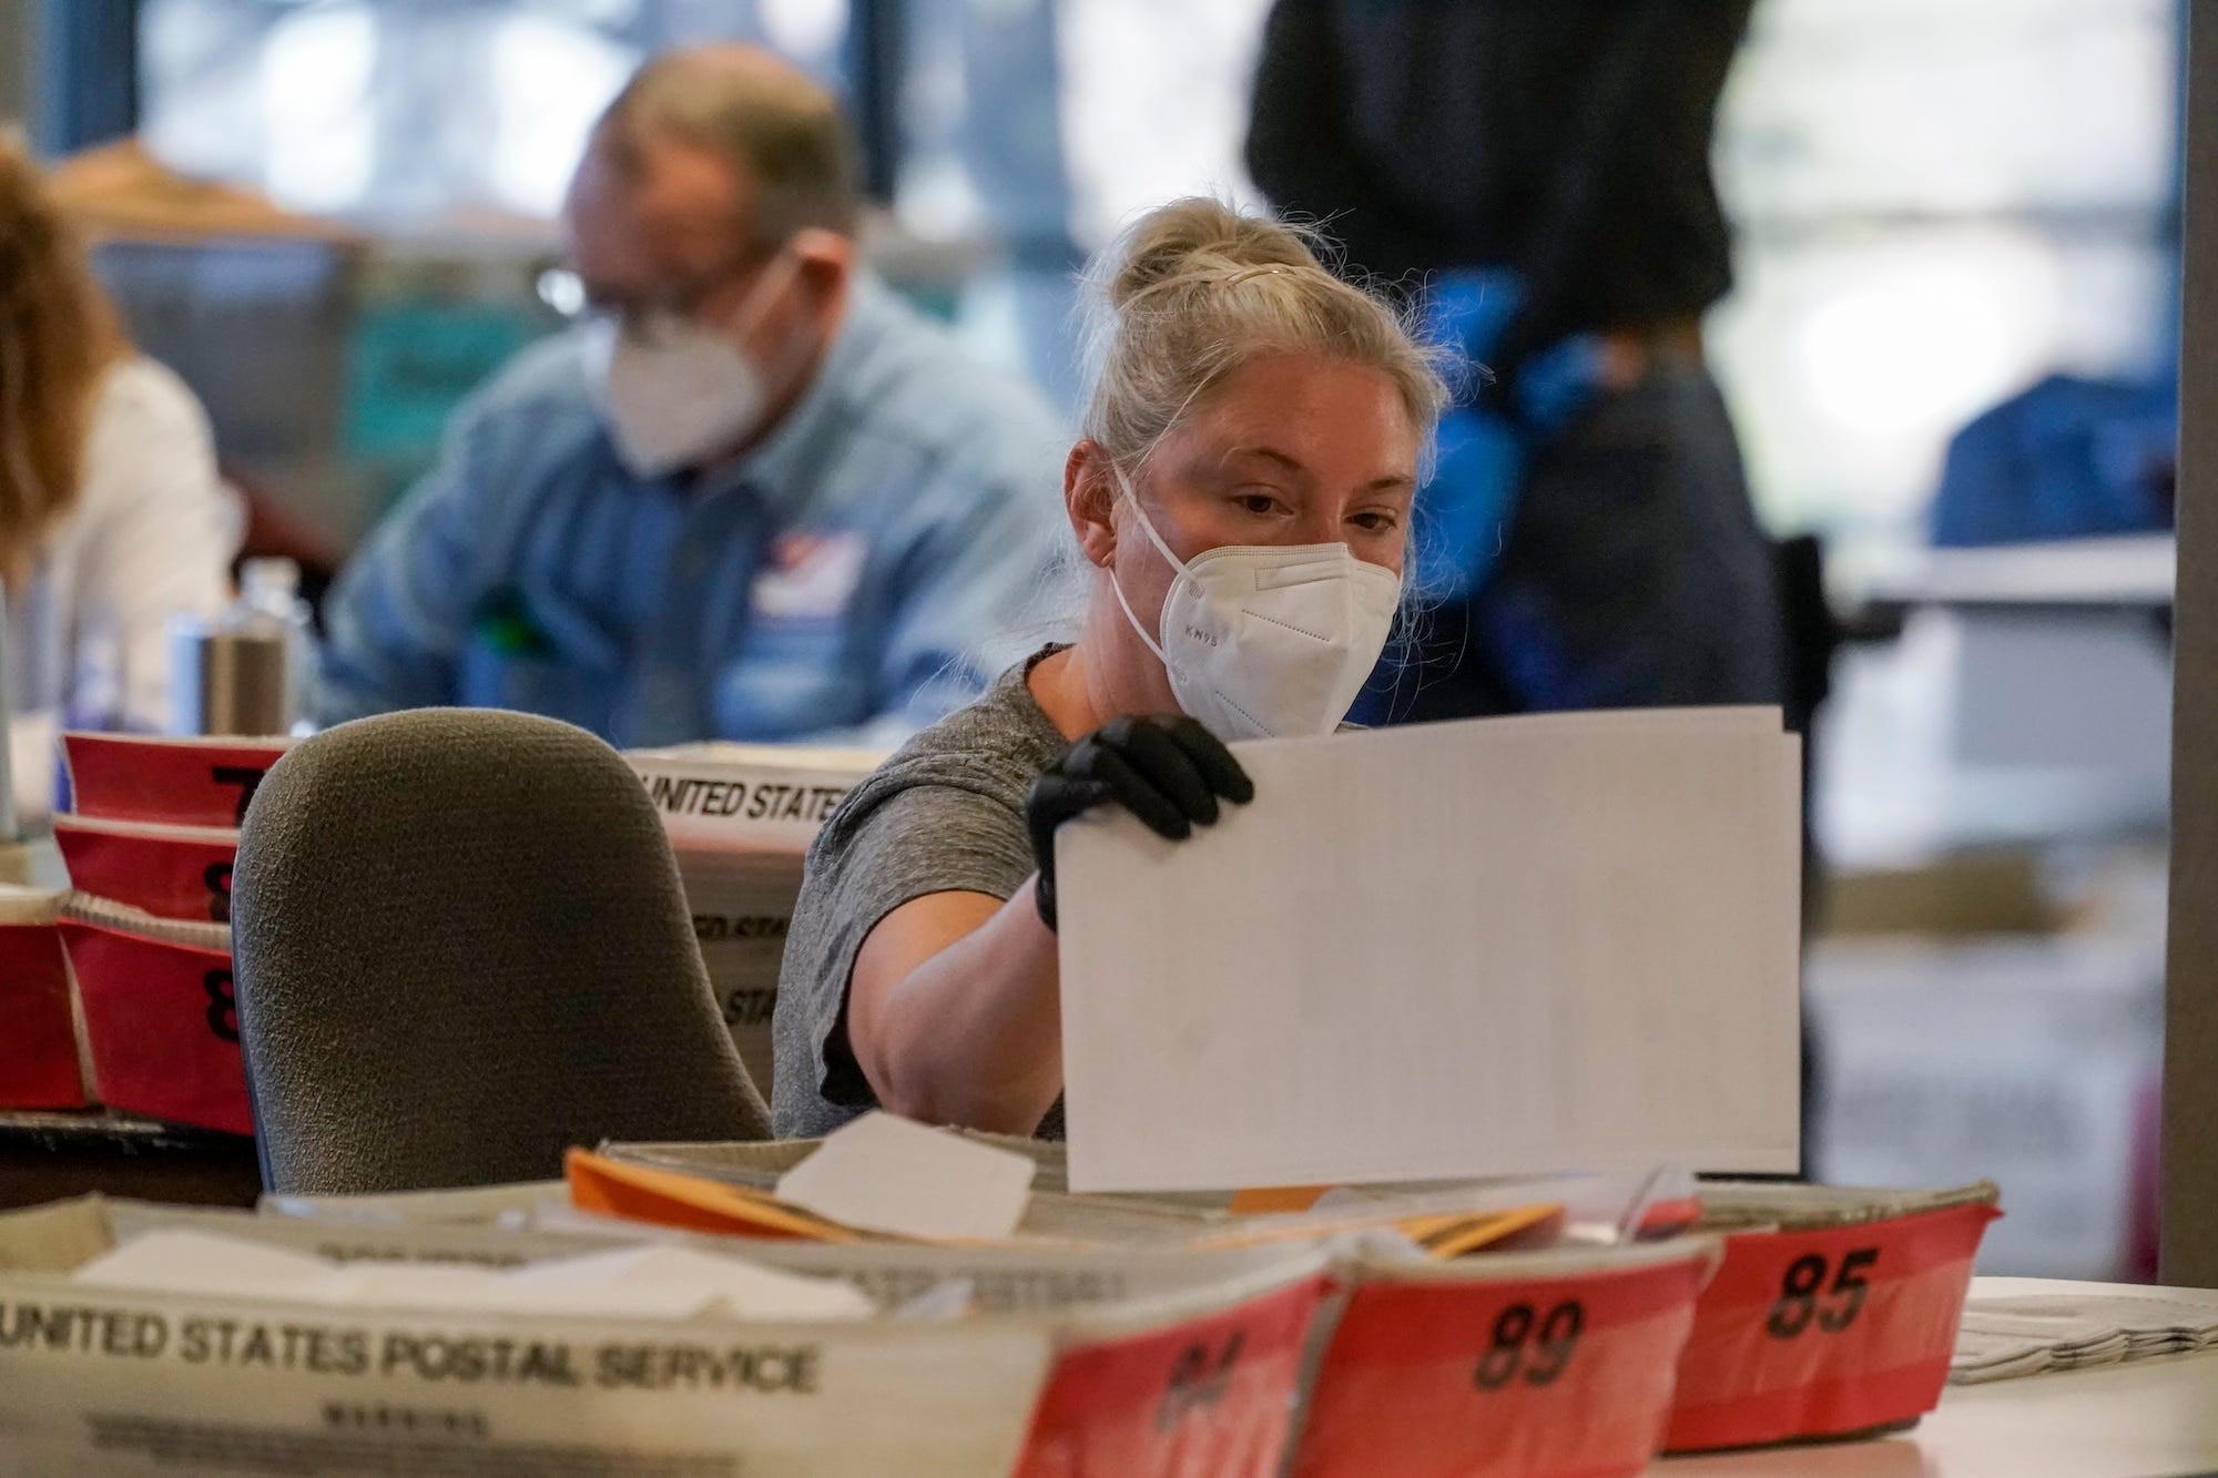
[[1726, 95], [1710, 324], [1774, 526], [1901, 537], [1947, 437], [2169, 353], [2174, 0], [1763, 0]]

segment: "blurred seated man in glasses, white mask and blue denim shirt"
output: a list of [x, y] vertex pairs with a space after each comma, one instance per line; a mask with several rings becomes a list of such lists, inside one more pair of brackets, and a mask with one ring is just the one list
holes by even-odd
[[457, 415], [326, 604], [315, 717], [883, 746], [1038, 593], [1067, 437], [856, 264], [849, 131], [747, 47], [643, 67], [563, 209], [588, 322]]

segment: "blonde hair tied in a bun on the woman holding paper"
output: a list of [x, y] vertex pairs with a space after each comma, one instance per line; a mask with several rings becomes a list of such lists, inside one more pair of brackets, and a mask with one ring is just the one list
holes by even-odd
[[1375, 368], [1420, 444], [1448, 402], [1446, 362], [1384, 297], [1335, 277], [1306, 226], [1218, 200], [1173, 200], [1133, 222], [1085, 277], [1093, 382], [1080, 435], [1138, 470], [1211, 386], [1269, 353]]

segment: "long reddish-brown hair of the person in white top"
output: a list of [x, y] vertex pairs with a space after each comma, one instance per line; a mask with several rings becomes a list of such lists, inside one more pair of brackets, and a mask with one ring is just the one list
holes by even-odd
[[100, 379], [129, 351], [38, 164], [0, 133], [0, 575], [11, 597], [78, 499]]

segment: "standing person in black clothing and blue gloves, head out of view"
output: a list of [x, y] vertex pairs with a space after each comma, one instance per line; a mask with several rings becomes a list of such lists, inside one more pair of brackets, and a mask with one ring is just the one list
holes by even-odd
[[[1490, 371], [1464, 408], [1510, 448], [1499, 513], [1360, 717], [1785, 697], [1772, 546], [1701, 353], [1732, 282], [1710, 133], [1750, 4], [1271, 11], [1247, 144], [1262, 191], [1329, 220], [1349, 269], [1510, 304], [1464, 340]], [[1442, 446], [1446, 504], [1462, 470]]]

